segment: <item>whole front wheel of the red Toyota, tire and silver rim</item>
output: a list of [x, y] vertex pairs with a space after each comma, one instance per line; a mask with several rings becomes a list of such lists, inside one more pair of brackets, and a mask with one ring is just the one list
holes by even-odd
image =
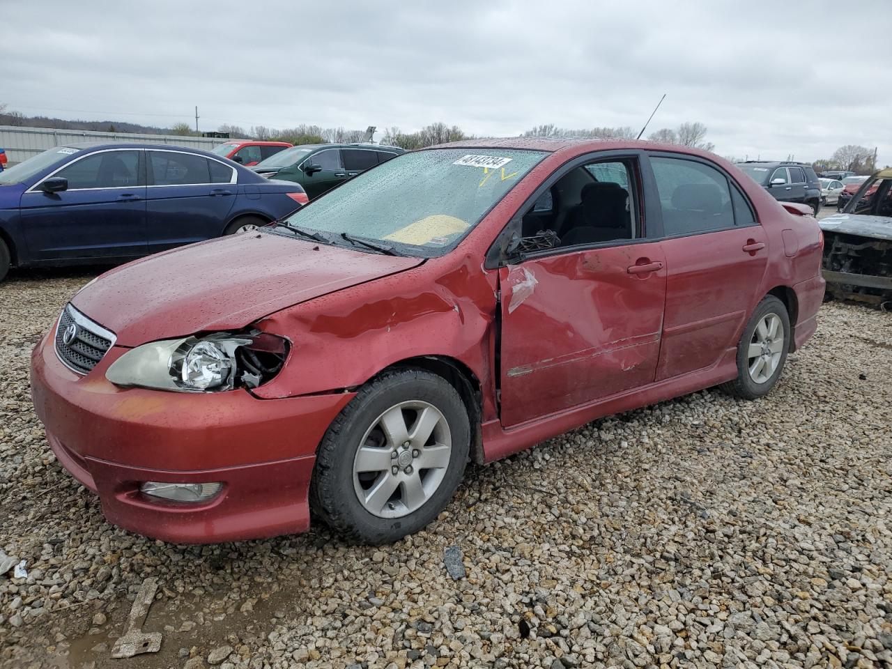
[[465, 404], [441, 376], [415, 369], [380, 376], [319, 445], [312, 508], [356, 541], [390, 543], [417, 532], [458, 488], [470, 435]]

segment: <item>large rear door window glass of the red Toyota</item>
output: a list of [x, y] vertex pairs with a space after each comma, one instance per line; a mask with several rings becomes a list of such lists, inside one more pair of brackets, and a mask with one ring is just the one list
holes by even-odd
[[666, 236], [734, 227], [728, 179], [718, 169], [680, 158], [651, 158]]

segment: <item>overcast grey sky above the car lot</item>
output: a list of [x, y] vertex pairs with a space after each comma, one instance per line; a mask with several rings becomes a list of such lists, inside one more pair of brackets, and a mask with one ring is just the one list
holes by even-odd
[[[683, 8], [676, 8], [681, 7]], [[27, 115], [478, 136], [702, 121], [716, 153], [892, 163], [892, 2], [0, 0]], [[378, 136], [380, 137], [380, 135]]]

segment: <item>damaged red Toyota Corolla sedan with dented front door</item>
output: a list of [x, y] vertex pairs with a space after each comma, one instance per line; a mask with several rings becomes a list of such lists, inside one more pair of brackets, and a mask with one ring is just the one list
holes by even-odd
[[114, 524], [395, 541], [490, 462], [607, 414], [777, 382], [822, 235], [716, 156], [406, 153], [290, 218], [113, 269], [37, 344], [37, 414]]

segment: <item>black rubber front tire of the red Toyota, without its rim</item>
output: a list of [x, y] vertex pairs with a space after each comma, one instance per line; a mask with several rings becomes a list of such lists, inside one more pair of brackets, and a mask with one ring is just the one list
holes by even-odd
[[[442, 413], [449, 425], [450, 461], [439, 487], [423, 506], [405, 516], [385, 518], [370, 513], [359, 501], [354, 488], [353, 463], [368, 430], [385, 411], [404, 401], [423, 401]], [[310, 508], [352, 541], [369, 544], [398, 541], [425, 527], [452, 499], [465, 473], [470, 442], [471, 426], [465, 403], [441, 376], [418, 369], [379, 376], [359, 390], [319, 444], [310, 483]]]

